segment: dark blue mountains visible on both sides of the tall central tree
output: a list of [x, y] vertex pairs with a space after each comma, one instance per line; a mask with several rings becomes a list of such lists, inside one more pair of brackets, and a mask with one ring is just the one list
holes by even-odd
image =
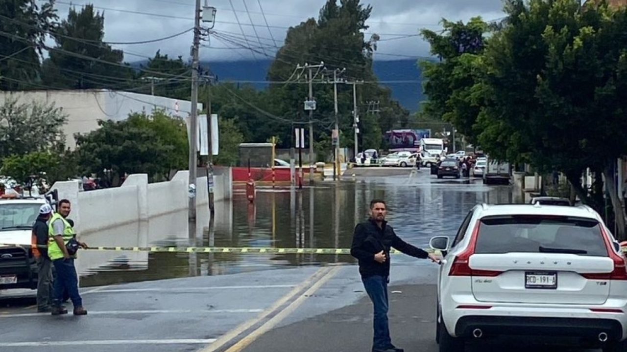
[[[253, 81], [253, 85], [263, 89], [272, 60], [250, 61], [211, 61], [201, 62], [209, 67], [218, 81]], [[374, 73], [384, 86], [392, 90], [392, 96], [407, 110], [418, 110], [419, 103], [426, 100], [422, 88], [422, 72], [414, 59], [374, 61]], [[386, 83], [386, 81], [402, 81]]]

